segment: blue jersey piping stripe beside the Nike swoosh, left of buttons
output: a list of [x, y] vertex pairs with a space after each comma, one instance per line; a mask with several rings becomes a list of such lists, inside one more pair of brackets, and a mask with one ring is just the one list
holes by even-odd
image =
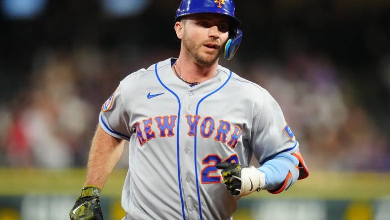
[[184, 202], [183, 202], [183, 194], [182, 194], [182, 184], [181, 184], [181, 177], [180, 177], [180, 145], [179, 145], [179, 131], [180, 131], [180, 109], [181, 109], [181, 104], [180, 104], [180, 99], [176, 95], [175, 92], [170, 90], [167, 86], [164, 85], [164, 83], [161, 81], [160, 77], [158, 76], [158, 71], [157, 71], [157, 63], [154, 65], [154, 72], [156, 73], [156, 77], [160, 84], [168, 90], [170, 93], [172, 93], [179, 104], [179, 111], [177, 113], [177, 128], [176, 128], [176, 151], [177, 151], [177, 176], [178, 176], [178, 183], [179, 183], [179, 192], [180, 192], [180, 200], [182, 202], [182, 214], [183, 214], [183, 220], [186, 220], [186, 214], [184, 212]]

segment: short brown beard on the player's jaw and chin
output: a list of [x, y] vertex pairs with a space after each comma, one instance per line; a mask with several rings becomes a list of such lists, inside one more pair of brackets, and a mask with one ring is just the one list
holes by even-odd
[[186, 32], [184, 32], [184, 34], [183, 34], [182, 41], [183, 41], [184, 48], [190, 53], [190, 55], [192, 55], [194, 57], [194, 59], [198, 63], [200, 63], [202, 65], [209, 66], [209, 65], [213, 64], [218, 59], [218, 56], [221, 53], [221, 47], [219, 47], [218, 53], [216, 53], [215, 55], [207, 54], [207, 55], [202, 56], [200, 49], [207, 42], [202, 42], [201, 44], [196, 45], [195, 41], [193, 39], [191, 39], [186, 34]]

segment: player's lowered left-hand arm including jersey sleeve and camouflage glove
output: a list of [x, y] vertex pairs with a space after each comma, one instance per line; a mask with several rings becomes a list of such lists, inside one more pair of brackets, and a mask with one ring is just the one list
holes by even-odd
[[[126, 78], [125, 78], [126, 79]], [[130, 116], [123, 103], [124, 80], [101, 106], [99, 124], [96, 129], [88, 158], [87, 178], [81, 196], [70, 211], [71, 220], [101, 220], [99, 194], [123, 152], [122, 140], [129, 140], [132, 131]], [[132, 86], [124, 86], [132, 88]], [[128, 103], [127, 103], [128, 104]]]

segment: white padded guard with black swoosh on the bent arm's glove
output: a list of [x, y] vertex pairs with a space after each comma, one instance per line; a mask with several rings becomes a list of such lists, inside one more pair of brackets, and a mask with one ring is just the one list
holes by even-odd
[[260, 191], [265, 185], [265, 174], [254, 166], [241, 169], [240, 196], [246, 196], [254, 191]]

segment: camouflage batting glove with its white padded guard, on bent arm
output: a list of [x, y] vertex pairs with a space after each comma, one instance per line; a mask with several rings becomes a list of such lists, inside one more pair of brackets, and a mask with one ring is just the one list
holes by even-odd
[[227, 162], [215, 166], [222, 169], [223, 183], [232, 195], [246, 196], [264, 188], [265, 174], [254, 166], [242, 168], [239, 164]]

